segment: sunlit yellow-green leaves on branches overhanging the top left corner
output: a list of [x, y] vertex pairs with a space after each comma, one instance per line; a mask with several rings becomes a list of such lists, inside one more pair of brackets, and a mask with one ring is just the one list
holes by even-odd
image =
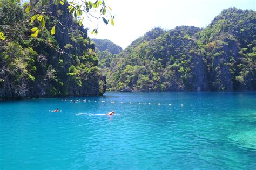
[[[10, 5], [2, 5], [2, 1], [4, 4], [10, 4]], [[17, 4], [16, 2], [19, 4], [21, 3], [20, 0], [1, 0], [0, 1], [0, 8], [1, 10], [5, 11], [5, 13], [7, 13], [8, 15], [4, 15], [4, 19], [0, 20], [0, 26], [1, 25], [6, 25], [5, 23], [9, 23], [10, 25], [13, 23], [14, 20], [22, 20], [23, 19], [23, 15], [18, 15], [20, 13], [23, 14], [23, 12], [21, 11], [21, 6], [19, 6], [20, 8], [16, 8]], [[83, 22], [83, 17], [81, 17], [81, 15], [83, 13], [86, 13], [86, 15], [88, 17], [92, 17], [94, 19], [97, 19], [97, 22], [100, 18], [103, 18], [103, 22], [105, 24], [108, 24], [108, 20], [111, 19], [111, 25], [114, 25], [114, 16], [111, 14], [111, 8], [109, 6], [107, 6], [105, 4], [104, 1], [101, 0], [97, 0], [95, 1], [95, 3], [92, 3], [91, 1], [85, 1], [85, 2], [68, 2], [66, 0], [62, 1], [62, 0], [54, 0], [53, 4], [56, 6], [62, 6], [64, 5], [66, 9], [69, 10], [69, 13], [73, 16], [73, 18], [75, 18], [79, 24], [79, 26], [82, 26], [82, 22]], [[27, 17], [30, 17], [31, 20], [31, 24], [37, 20], [38, 22], [38, 29], [32, 31], [31, 36], [32, 37], [37, 37], [38, 33], [42, 30], [47, 30], [48, 27], [46, 27], [46, 19], [50, 18], [51, 20], [55, 21], [55, 25], [57, 25], [58, 23], [58, 19], [55, 16], [49, 15], [49, 13], [44, 12], [45, 10], [47, 10], [49, 8], [49, 2], [48, 1], [30, 1], [30, 2], [25, 2], [23, 4], [23, 8], [24, 11], [26, 13]], [[14, 8], [15, 7], [15, 8]], [[58, 8], [59, 8], [58, 7]], [[98, 12], [98, 10], [96, 10], [97, 8], [101, 8], [100, 11]], [[110, 10], [108, 10], [107, 8], [109, 8]], [[61, 10], [58, 10], [57, 13], [59, 15], [62, 15], [63, 12], [60, 12]], [[96, 11], [96, 12], [95, 12]], [[97, 16], [99, 15], [99, 16]], [[105, 17], [103, 17], [105, 16]], [[2, 16], [1, 16], [2, 17]], [[107, 19], [105, 19], [107, 18]], [[68, 18], [65, 18], [68, 19]], [[27, 20], [24, 20], [24, 23]], [[28, 23], [26, 23], [28, 24]], [[55, 25], [53, 25], [53, 27], [51, 27], [51, 30], [49, 30], [49, 32], [53, 35], [55, 34]], [[98, 24], [97, 27], [95, 29], [93, 29], [92, 33], [97, 34], [98, 33]], [[4, 40], [5, 38], [3, 36], [0, 37], [2, 40]]]

